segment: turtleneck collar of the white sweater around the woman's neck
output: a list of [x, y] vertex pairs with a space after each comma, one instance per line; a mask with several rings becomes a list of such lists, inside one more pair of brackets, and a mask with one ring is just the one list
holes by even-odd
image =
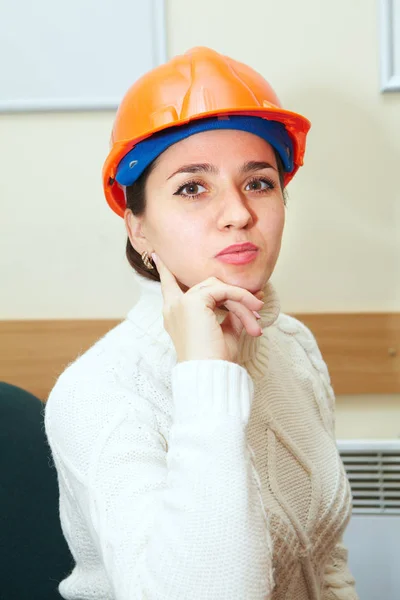
[[[156, 342], [165, 350], [170, 350], [174, 356], [175, 348], [171, 337], [164, 329], [163, 304], [164, 299], [161, 290], [161, 283], [142, 277], [138, 273], [134, 274], [139, 288], [139, 299], [135, 306], [129, 311], [127, 318], [135, 323], [144, 335], [150, 338], [150, 342]], [[263, 288], [264, 305], [259, 310], [261, 319], [258, 321], [262, 329], [271, 326], [278, 318], [280, 312], [280, 303], [275, 289], [271, 282], [267, 282]], [[217, 308], [215, 315], [218, 323], [222, 323], [227, 315], [227, 311]], [[267, 366], [267, 352], [265, 343], [265, 332], [263, 336], [253, 337], [243, 329], [239, 340], [238, 363], [246, 366], [253, 377], [258, 377], [265, 373]]]

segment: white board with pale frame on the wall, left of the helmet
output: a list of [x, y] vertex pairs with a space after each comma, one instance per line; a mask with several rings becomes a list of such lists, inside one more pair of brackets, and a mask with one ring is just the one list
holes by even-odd
[[164, 0], [10, 0], [0, 14], [0, 112], [115, 109], [166, 60]]

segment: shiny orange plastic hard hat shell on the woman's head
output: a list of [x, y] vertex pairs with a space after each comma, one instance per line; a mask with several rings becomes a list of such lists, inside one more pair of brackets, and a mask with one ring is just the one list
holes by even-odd
[[118, 215], [126, 206], [117, 167], [139, 142], [154, 133], [218, 115], [248, 115], [278, 121], [293, 144], [293, 169], [285, 186], [303, 164], [308, 119], [285, 110], [270, 84], [254, 69], [205, 47], [152, 69], [134, 83], [118, 108], [110, 153], [103, 166], [106, 200]]

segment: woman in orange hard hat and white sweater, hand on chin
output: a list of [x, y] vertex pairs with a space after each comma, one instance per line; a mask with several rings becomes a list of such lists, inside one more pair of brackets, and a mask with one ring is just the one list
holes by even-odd
[[357, 599], [329, 375], [269, 282], [309, 127], [208, 48], [124, 97], [104, 189], [141, 295], [46, 405], [64, 598]]

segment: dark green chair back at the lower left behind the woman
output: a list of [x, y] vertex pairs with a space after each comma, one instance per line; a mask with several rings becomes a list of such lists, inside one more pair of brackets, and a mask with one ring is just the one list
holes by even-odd
[[0, 600], [60, 600], [57, 586], [73, 567], [43, 409], [0, 382]]

